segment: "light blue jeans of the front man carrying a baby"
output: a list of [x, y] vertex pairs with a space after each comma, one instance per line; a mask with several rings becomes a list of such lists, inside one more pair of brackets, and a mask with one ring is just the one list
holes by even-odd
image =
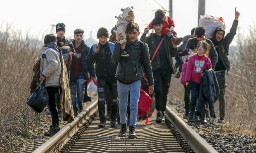
[[117, 91], [119, 95], [120, 123], [126, 123], [128, 93], [130, 93], [130, 126], [136, 127], [138, 102], [140, 98], [140, 80], [128, 85], [117, 81]]

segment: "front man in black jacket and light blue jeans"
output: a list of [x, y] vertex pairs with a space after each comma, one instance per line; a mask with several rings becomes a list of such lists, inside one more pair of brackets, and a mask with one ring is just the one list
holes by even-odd
[[[123, 39], [123, 35], [119, 34], [111, 60], [118, 63], [116, 69], [117, 90], [119, 95], [119, 114], [121, 130], [119, 137], [126, 135], [126, 110], [128, 94], [130, 93], [130, 125], [129, 139], [137, 137], [135, 134], [138, 101], [140, 97], [140, 82], [142, 79], [142, 68], [145, 70], [149, 82], [149, 94], [153, 93], [154, 80], [152, 67], [150, 64], [149, 51], [147, 44], [137, 40], [140, 35], [137, 23], [129, 23], [127, 26], [128, 42], [126, 51], [129, 57], [121, 57], [121, 44], [119, 41]], [[142, 47], [141, 47], [142, 46]]]

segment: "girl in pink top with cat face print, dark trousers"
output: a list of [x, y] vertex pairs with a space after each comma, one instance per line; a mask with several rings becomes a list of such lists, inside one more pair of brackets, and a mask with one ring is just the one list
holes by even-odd
[[194, 118], [202, 72], [205, 69], [211, 69], [211, 60], [207, 57], [209, 54], [209, 44], [204, 40], [200, 41], [197, 44], [196, 51], [197, 53], [188, 59], [185, 76], [186, 86], [191, 88], [190, 120]]

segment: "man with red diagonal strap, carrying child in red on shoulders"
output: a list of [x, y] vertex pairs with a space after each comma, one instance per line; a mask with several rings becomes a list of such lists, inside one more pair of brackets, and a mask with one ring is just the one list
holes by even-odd
[[143, 35], [140, 37], [142, 42], [146, 42], [149, 46], [149, 54], [152, 58], [156, 48], [159, 46], [161, 40], [163, 43], [159, 46], [159, 51], [156, 53], [152, 61], [152, 70], [154, 76], [154, 93], [156, 98], [157, 117], [156, 123], [161, 123], [164, 117], [167, 104], [167, 94], [171, 83], [171, 74], [174, 73], [173, 57], [177, 53], [177, 44], [172, 44], [171, 38], [165, 37], [162, 33], [163, 20], [154, 18], [152, 21], [155, 33], [151, 33], [148, 37], [147, 28], [145, 28]]

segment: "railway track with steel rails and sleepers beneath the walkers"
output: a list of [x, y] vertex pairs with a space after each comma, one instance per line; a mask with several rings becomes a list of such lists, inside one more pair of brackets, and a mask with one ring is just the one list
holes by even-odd
[[[110, 128], [107, 121], [105, 128], [98, 127], [99, 117], [97, 100], [75, 120], [52, 137], [26, 146], [22, 153], [117, 153], [117, 152], [179, 152], [179, 153], [217, 153], [192, 128], [181, 120], [171, 108], [166, 108], [165, 123], [155, 123], [156, 112], [148, 123], [137, 121], [135, 129], [137, 139], [118, 137], [121, 125]], [[128, 135], [128, 132], [127, 132]]]

